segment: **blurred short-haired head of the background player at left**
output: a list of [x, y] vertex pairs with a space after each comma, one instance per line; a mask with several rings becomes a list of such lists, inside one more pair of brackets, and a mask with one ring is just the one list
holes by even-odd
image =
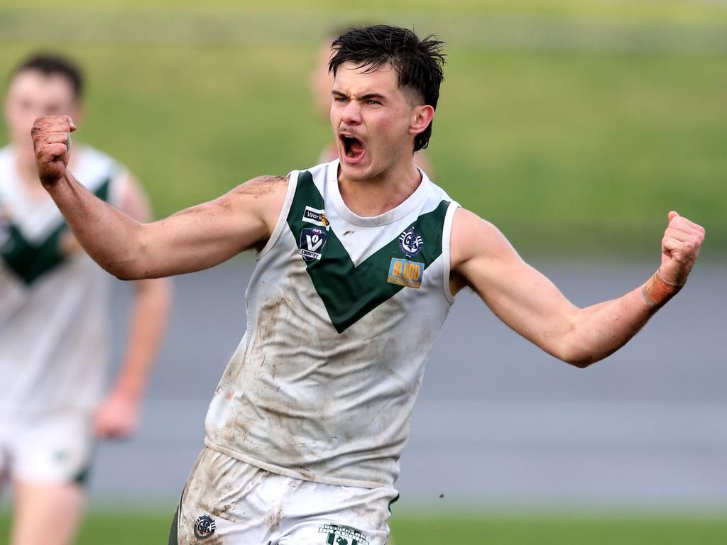
[[5, 121], [17, 158], [35, 163], [31, 128], [40, 116], [71, 116], [79, 121], [81, 70], [58, 55], [33, 55], [12, 71], [5, 96]]

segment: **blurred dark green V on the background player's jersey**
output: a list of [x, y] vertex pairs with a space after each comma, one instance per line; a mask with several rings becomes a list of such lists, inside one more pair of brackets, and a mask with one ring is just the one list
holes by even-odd
[[[95, 190], [95, 195], [108, 201], [111, 179], [105, 180]], [[35, 280], [65, 261], [68, 256], [63, 249], [64, 235], [70, 233], [68, 225], [60, 219], [59, 225], [43, 241], [28, 241], [17, 225], [7, 225], [7, 240], [0, 248], [0, 259], [9, 270], [30, 286]]]

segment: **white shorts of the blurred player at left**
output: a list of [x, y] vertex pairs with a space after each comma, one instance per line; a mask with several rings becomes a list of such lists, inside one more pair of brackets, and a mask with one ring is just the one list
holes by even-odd
[[32, 484], [83, 484], [94, 440], [87, 412], [0, 419], [0, 477]]

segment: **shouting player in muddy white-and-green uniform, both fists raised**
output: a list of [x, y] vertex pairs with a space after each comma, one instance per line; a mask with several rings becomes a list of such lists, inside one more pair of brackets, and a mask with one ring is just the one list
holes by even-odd
[[161, 222], [136, 222], [79, 185], [68, 117], [33, 127], [41, 182], [111, 273], [189, 273], [257, 250], [247, 331], [214, 392], [169, 544], [383, 545], [425, 362], [458, 291], [586, 367], [631, 339], [699, 254], [704, 229], [672, 211], [651, 278], [575, 307], [414, 166], [438, 102], [441, 41], [377, 25], [333, 47], [340, 159], [254, 178]]

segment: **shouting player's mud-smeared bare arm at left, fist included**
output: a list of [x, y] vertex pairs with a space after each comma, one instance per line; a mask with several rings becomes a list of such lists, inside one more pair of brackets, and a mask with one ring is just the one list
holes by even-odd
[[214, 201], [142, 224], [101, 201], [68, 171], [75, 130], [68, 116], [36, 120], [32, 136], [39, 178], [81, 246], [116, 277], [191, 273], [260, 248], [270, 238], [285, 199], [285, 178], [257, 177]]

